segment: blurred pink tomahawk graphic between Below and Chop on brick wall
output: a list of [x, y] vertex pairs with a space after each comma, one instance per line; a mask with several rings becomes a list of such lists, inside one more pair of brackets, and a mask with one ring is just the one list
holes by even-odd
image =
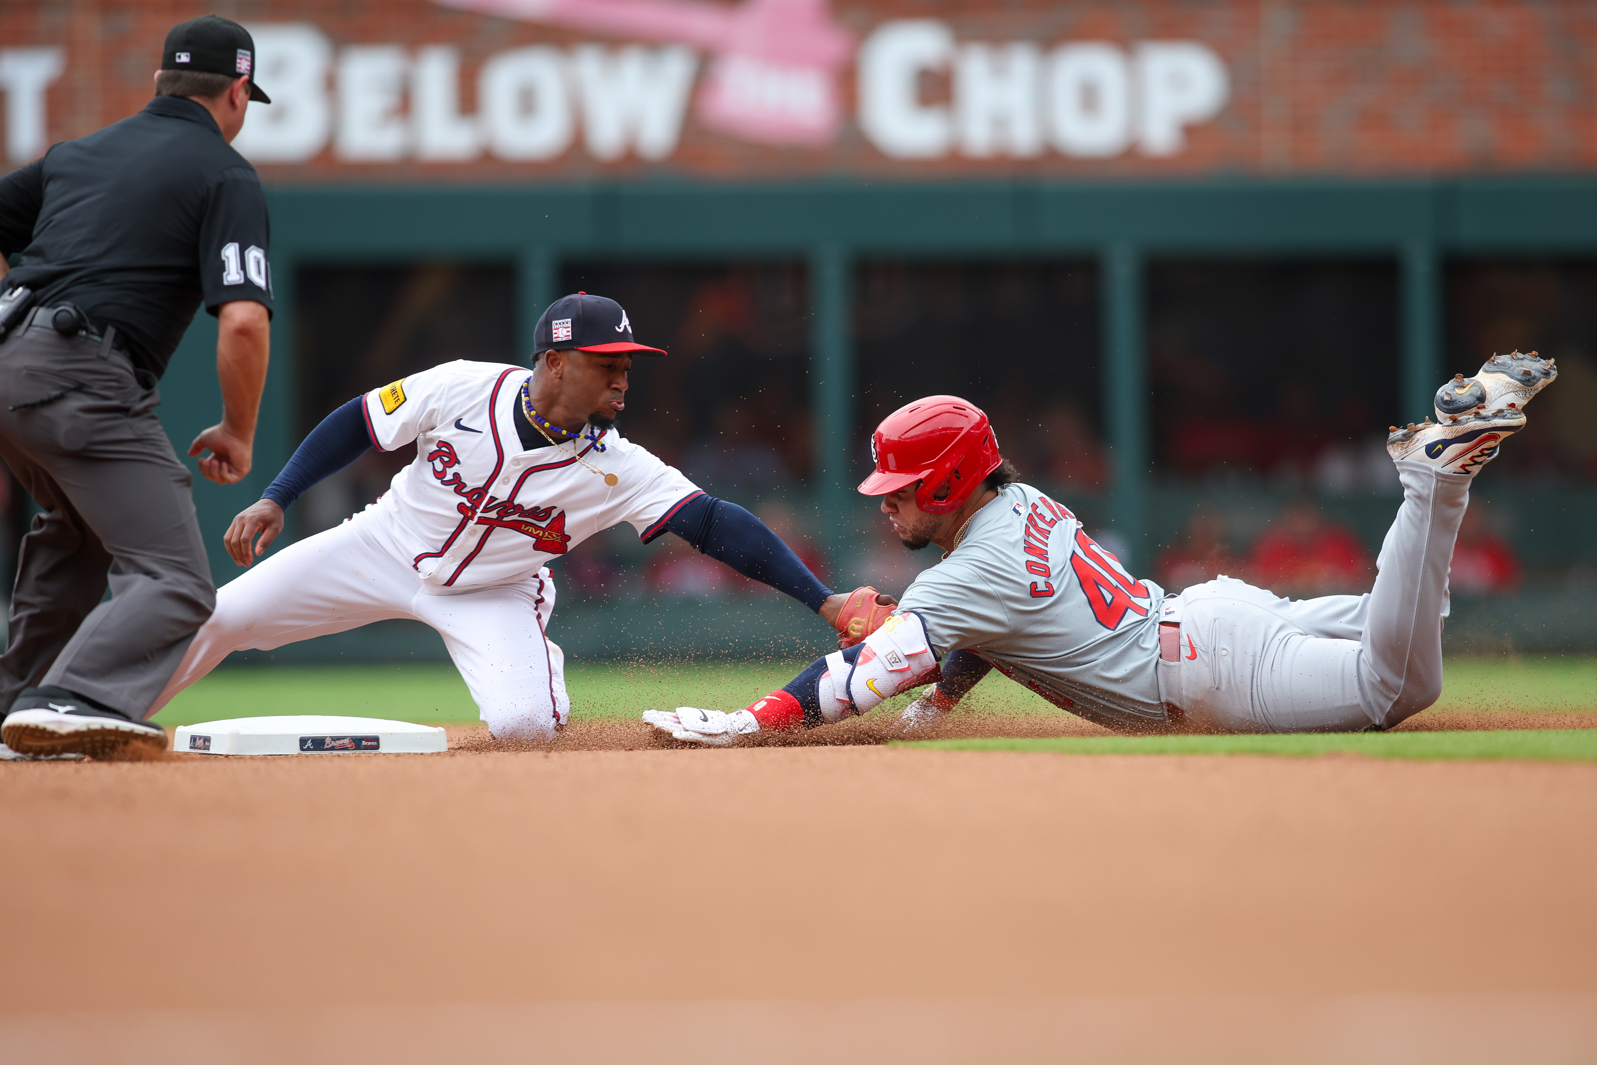
[[842, 121], [837, 73], [854, 40], [829, 0], [436, 0], [449, 8], [714, 54], [698, 97], [706, 126], [776, 145], [830, 144]]

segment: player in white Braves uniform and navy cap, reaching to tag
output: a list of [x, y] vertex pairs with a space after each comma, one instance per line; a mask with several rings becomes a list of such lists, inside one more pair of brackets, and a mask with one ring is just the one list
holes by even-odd
[[838, 616], [845, 597], [759, 519], [613, 430], [632, 356], [666, 354], [632, 340], [615, 300], [556, 300], [535, 340], [532, 370], [446, 362], [351, 399], [313, 430], [227, 530], [240, 565], [265, 552], [294, 498], [367, 449], [414, 442], [417, 457], [364, 511], [220, 588], [152, 714], [232, 651], [415, 618], [442, 634], [495, 738], [548, 739], [570, 698], [564, 655], [545, 635], [554, 612], [545, 562], [620, 522], [645, 543], [672, 532]]

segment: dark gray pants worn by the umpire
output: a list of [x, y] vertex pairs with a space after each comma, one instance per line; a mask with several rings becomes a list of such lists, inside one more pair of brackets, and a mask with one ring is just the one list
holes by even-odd
[[18, 559], [0, 715], [59, 685], [139, 720], [211, 616], [193, 479], [157, 404], [109, 342], [29, 326], [0, 343], [0, 458], [43, 511]]

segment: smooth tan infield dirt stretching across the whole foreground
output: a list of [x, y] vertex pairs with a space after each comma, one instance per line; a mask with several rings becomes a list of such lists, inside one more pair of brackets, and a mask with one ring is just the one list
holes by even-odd
[[1597, 766], [454, 739], [0, 765], [0, 1057], [1597, 1057]]

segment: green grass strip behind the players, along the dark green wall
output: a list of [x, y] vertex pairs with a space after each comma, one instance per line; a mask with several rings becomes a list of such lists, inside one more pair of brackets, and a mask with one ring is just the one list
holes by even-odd
[[[573, 712], [634, 717], [650, 707], [735, 709], [786, 683], [806, 663], [569, 663]], [[1447, 663], [1437, 711], [1597, 712], [1597, 656], [1461, 658]], [[902, 703], [904, 699], [894, 701]], [[992, 714], [1059, 714], [997, 672], [968, 696]], [[891, 707], [886, 711], [891, 712]], [[188, 688], [157, 715], [166, 726], [265, 714], [350, 714], [426, 723], [473, 722], [454, 666], [238, 666]]]

